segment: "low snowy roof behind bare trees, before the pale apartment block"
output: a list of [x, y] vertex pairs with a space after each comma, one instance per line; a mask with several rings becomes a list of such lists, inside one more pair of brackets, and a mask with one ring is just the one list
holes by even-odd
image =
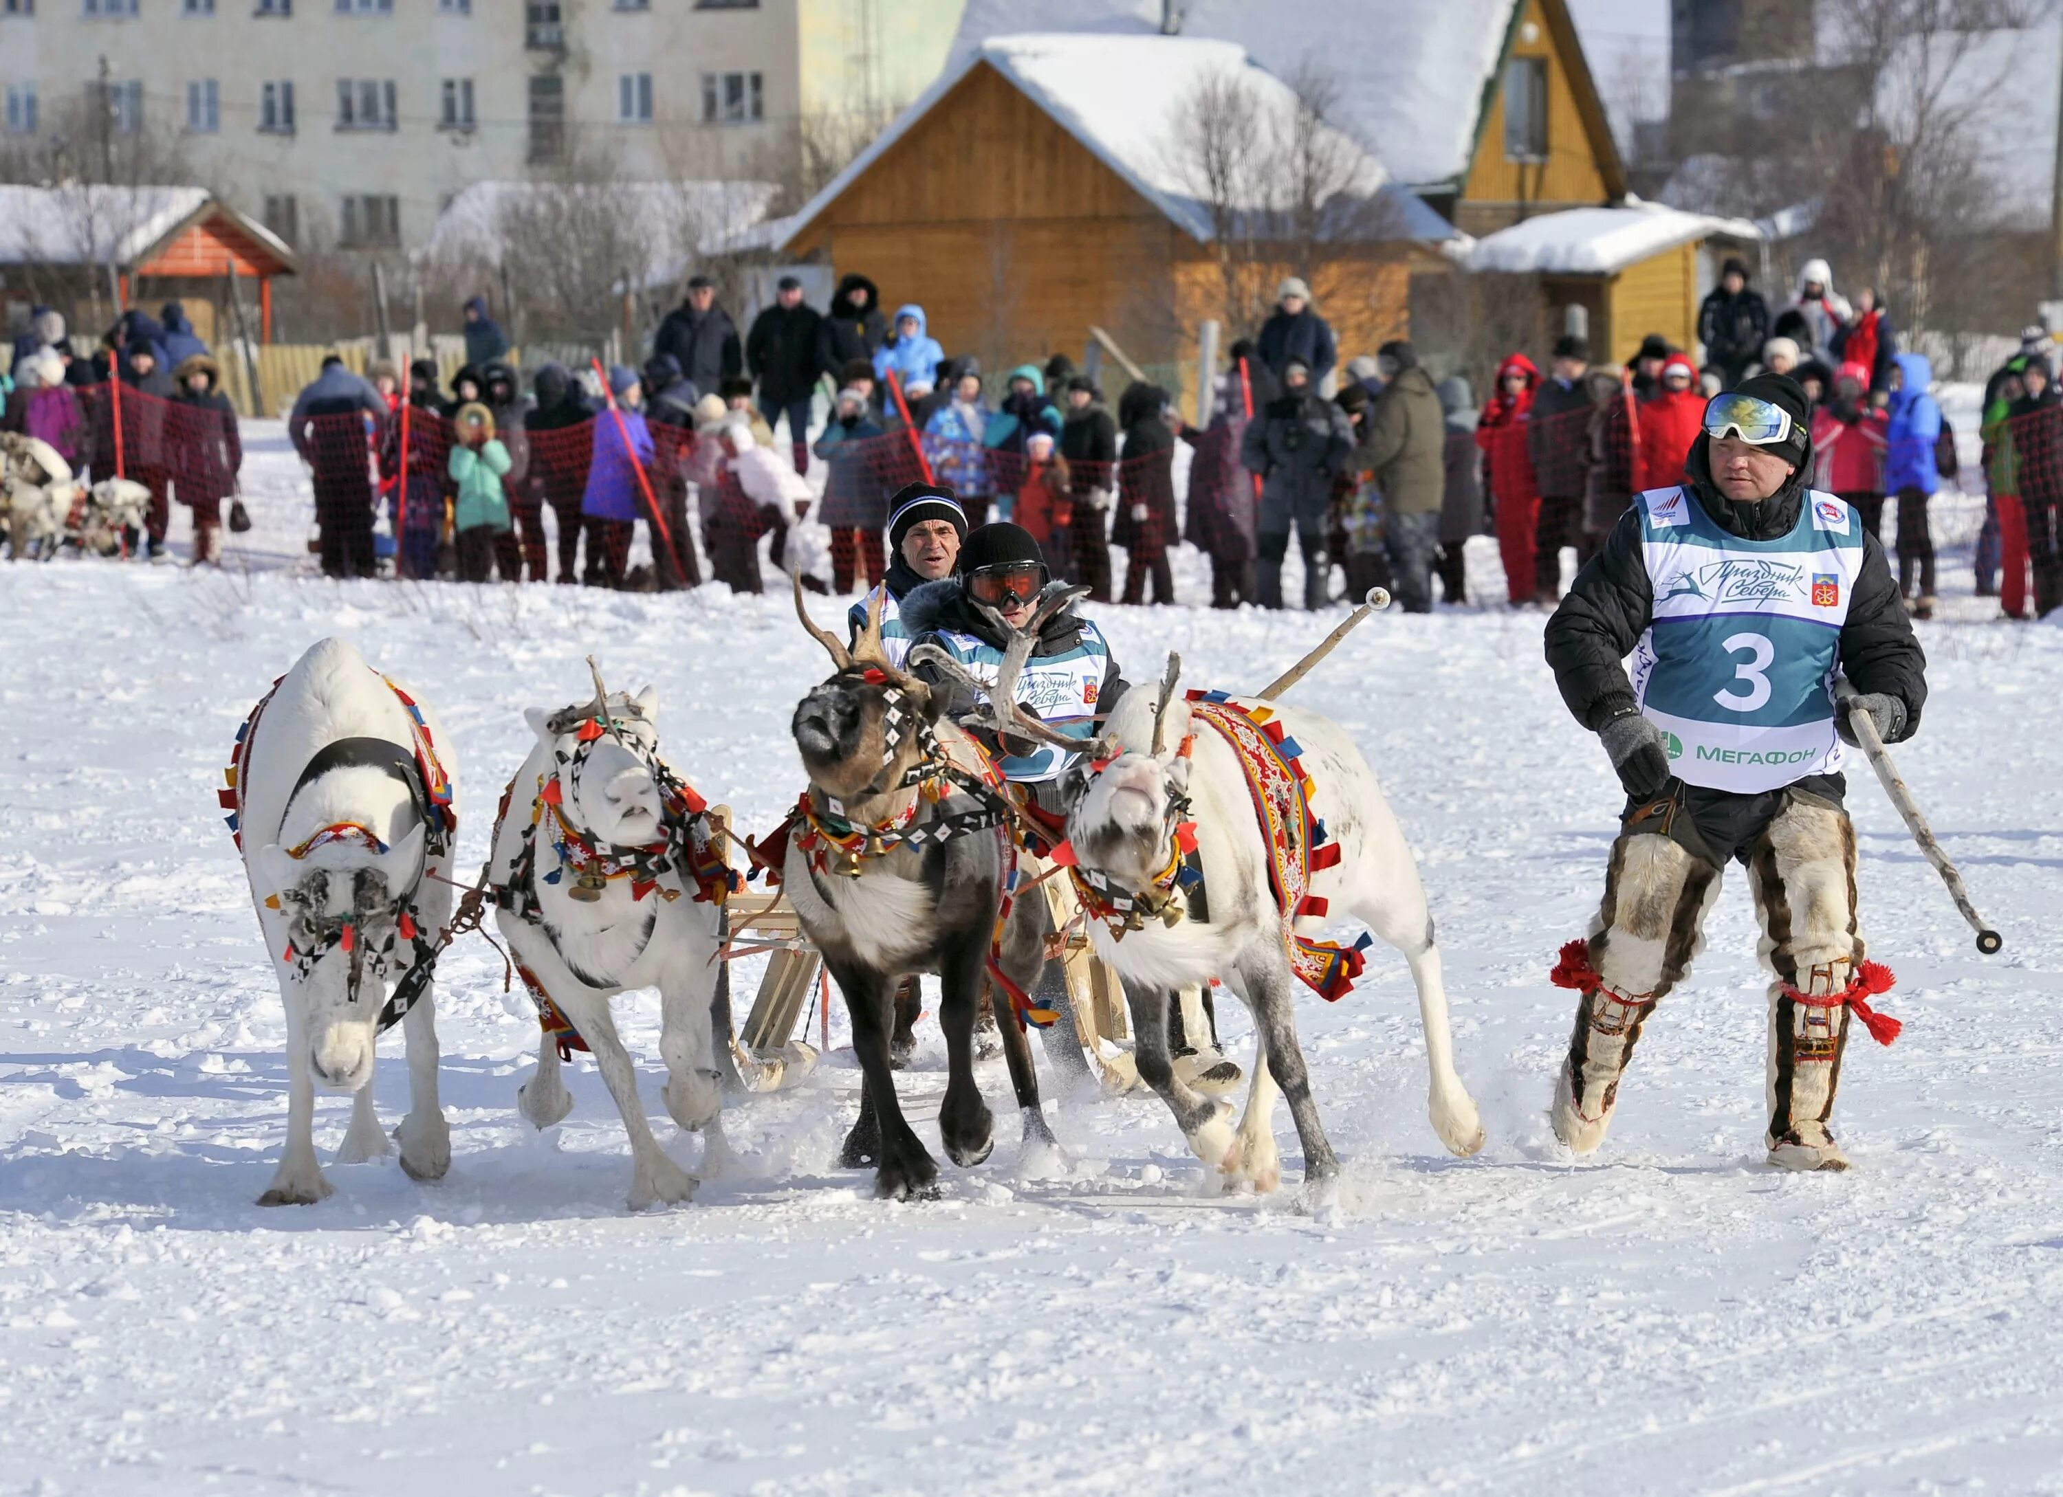
[[644, 245], [633, 280], [650, 285], [679, 268], [683, 241], [718, 254], [761, 223], [778, 194], [772, 181], [474, 181], [437, 214], [417, 256], [497, 266], [512, 219], [559, 204], [578, 219], [607, 217], [611, 237]]

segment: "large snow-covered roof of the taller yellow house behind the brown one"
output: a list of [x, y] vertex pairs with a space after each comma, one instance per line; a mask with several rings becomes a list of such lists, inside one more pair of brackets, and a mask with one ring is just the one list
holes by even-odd
[[[1459, 186], [1518, 0], [1184, 0], [1182, 39], [1230, 41], [1277, 76], [1339, 85], [1339, 124], [1411, 188]], [[968, 0], [953, 60], [1003, 31], [1159, 33], [1159, 0]], [[1143, 78], [1128, 76], [1120, 103]]]

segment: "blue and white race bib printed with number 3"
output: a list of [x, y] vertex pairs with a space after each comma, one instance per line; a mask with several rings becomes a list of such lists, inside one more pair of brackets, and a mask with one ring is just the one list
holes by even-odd
[[1634, 695], [1669, 734], [1669, 769], [1743, 794], [1838, 771], [1834, 668], [1863, 567], [1855, 511], [1807, 491], [1791, 534], [1741, 540], [1688, 489], [1638, 503], [1655, 608]]

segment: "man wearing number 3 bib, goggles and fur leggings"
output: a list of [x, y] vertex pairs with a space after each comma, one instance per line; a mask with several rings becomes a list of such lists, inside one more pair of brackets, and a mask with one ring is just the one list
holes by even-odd
[[[1851, 1010], [1890, 973], [1863, 961], [1855, 829], [1842, 808], [1844, 672], [1886, 742], [1919, 728], [1927, 660], [1884, 546], [1805, 487], [1805, 392], [1756, 375], [1706, 406], [1690, 483], [1650, 489], [1547, 625], [1562, 699], [1626, 786], [1589, 942], [1553, 982], [1582, 994], [1556, 1085], [1556, 1136], [1605, 1140], [1655, 1004], [1690, 971], [1721, 870], [1749, 870], [1770, 984], [1770, 1163], [1846, 1169], [1828, 1132]], [[1622, 660], [1634, 656], [1628, 678]]]

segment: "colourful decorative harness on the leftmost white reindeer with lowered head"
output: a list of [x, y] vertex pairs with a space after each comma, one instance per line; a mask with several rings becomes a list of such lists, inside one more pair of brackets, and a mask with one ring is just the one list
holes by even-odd
[[[375, 672], [378, 674], [378, 672]], [[229, 835], [243, 852], [243, 788], [248, 779], [252, 730], [258, 726], [258, 718], [264, 713], [266, 705], [279, 695], [279, 683], [285, 676], [272, 680], [272, 691], [258, 699], [243, 726], [237, 728], [235, 746], [229, 751], [229, 767], [223, 769], [223, 788], [217, 792], [217, 802], [229, 814], [223, 819], [229, 823]], [[307, 761], [301, 769], [301, 777], [295, 779], [293, 790], [287, 792], [287, 804], [301, 790], [330, 773], [332, 769], [382, 769], [394, 779], [400, 779], [408, 788], [408, 800], [415, 804], [417, 819], [423, 823], [423, 868], [417, 872], [417, 883], [408, 887], [398, 899], [394, 899], [394, 934], [386, 936], [378, 946], [367, 949], [359, 938], [359, 918], [357, 911], [349, 916], [297, 916], [295, 922], [307, 932], [305, 940], [289, 938], [287, 949], [281, 953], [281, 961], [293, 967], [295, 982], [305, 982], [316, 965], [328, 957], [332, 951], [345, 951], [351, 957], [351, 1002], [357, 1002], [359, 977], [363, 965], [369, 961], [375, 971], [392, 971], [394, 953], [406, 944], [408, 965], [402, 969], [400, 977], [394, 982], [394, 992], [388, 994], [386, 1004], [380, 1008], [380, 1029], [386, 1033], [402, 1014], [406, 1014], [417, 1000], [421, 1000], [423, 990], [429, 988], [431, 977], [437, 973], [437, 955], [448, 944], [452, 930], [441, 932], [437, 942], [431, 942], [423, 934], [423, 920], [417, 911], [415, 897], [421, 889], [423, 874], [429, 872], [429, 864], [450, 852], [452, 839], [458, 835], [458, 812], [452, 808], [452, 779], [444, 771], [444, 763], [437, 759], [437, 744], [429, 732], [429, 724], [423, 720], [423, 709], [417, 705], [415, 697], [396, 687], [388, 676], [380, 676], [386, 689], [394, 693], [394, 699], [402, 705], [408, 718], [408, 748], [388, 740], [388, 738], [336, 738]], [[386, 854], [388, 845], [365, 825], [355, 821], [338, 821], [322, 827], [305, 841], [287, 850], [289, 858], [301, 860], [318, 847], [330, 847], [340, 843], [357, 843], [369, 847], [373, 854]], [[270, 893], [264, 899], [266, 909], [281, 909], [279, 893]], [[456, 926], [454, 926], [456, 928]]]

